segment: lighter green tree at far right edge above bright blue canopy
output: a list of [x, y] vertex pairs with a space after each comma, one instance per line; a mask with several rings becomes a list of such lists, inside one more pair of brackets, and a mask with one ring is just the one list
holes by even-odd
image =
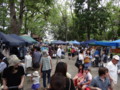
[[120, 36], [120, 6], [114, 4], [114, 1], [110, 1], [106, 5], [110, 18], [108, 22], [108, 39], [112, 40]]

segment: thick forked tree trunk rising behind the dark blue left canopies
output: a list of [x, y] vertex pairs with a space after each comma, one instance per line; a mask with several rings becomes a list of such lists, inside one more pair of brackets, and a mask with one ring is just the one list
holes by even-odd
[[9, 0], [9, 7], [10, 7], [10, 33], [20, 34], [20, 30], [22, 27], [23, 22], [23, 13], [24, 13], [24, 0], [20, 0], [20, 11], [19, 11], [19, 18], [16, 18], [16, 11], [15, 11], [15, 0]]

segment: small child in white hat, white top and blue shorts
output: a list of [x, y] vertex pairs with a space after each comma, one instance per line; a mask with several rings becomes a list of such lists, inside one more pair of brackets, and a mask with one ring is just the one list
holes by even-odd
[[32, 84], [32, 90], [39, 90], [40, 88], [40, 75], [39, 75], [39, 72], [38, 71], [34, 71], [33, 74], [32, 74], [32, 81], [33, 81], [33, 84]]

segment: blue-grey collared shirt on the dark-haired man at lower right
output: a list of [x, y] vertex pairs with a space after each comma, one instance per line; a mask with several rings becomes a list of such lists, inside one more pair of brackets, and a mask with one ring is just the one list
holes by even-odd
[[109, 78], [105, 78], [104, 81], [101, 80], [99, 76], [93, 78], [90, 86], [92, 87], [98, 87], [102, 90], [108, 90], [108, 87], [111, 86]]

